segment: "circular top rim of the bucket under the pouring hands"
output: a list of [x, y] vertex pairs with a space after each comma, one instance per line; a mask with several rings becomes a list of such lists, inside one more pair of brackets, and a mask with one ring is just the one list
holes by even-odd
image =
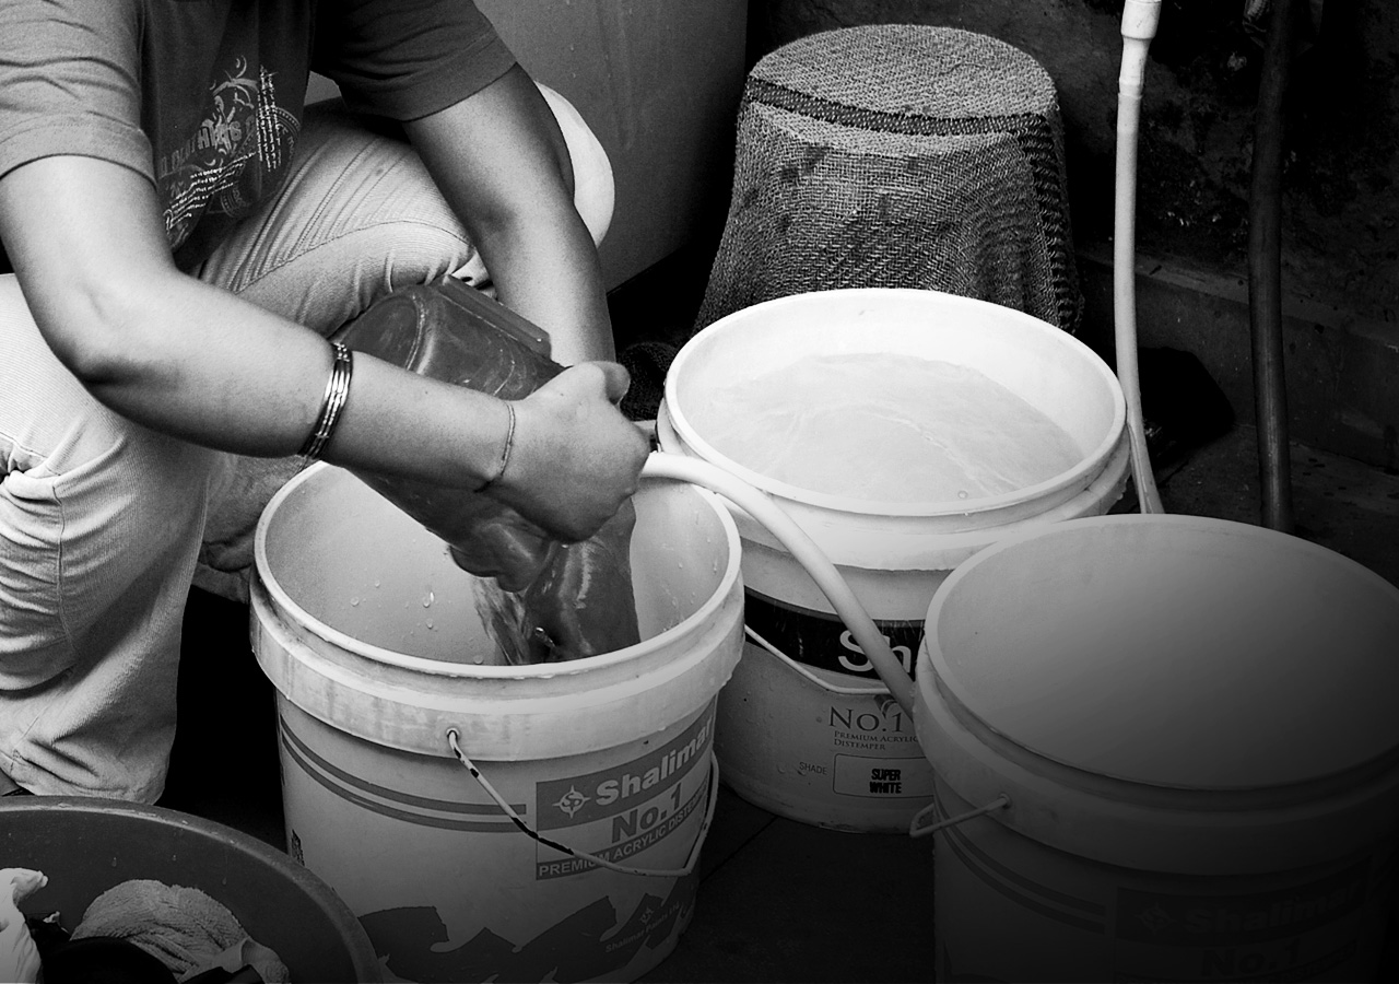
[[[623, 649], [614, 649], [611, 652], [600, 652], [596, 656], [582, 656], [579, 659], [568, 659], [558, 663], [529, 663], [525, 666], [494, 666], [494, 665], [477, 665], [477, 663], [453, 663], [443, 659], [428, 659], [425, 656], [414, 656], [407, 652], [397, 652], [381, 645], [374, 645], [372, 642], [365, 642], [358, 640], [348, 633], [343, 633], [333, 626], [326, 624], [323, 620], [315, 617], [292, 599], [287, 589], [271, 575], [271, 561], [267, 557], [267, 530], [271, 526], [273, 516], [281, 504], [290, 498], [297, 490], [309, 482], [315, 482], [316, 476], [325, 473], [327, 469], [336, 466], [329, 462], [316, 462], [309, 468], [299, 472], [294, 479], [284, 484], [277, 494], [269, 500], [267, 507], [263, 509], [262, 515], [257, 518], [257, 528], [253, 535], [253, 571], [256, 574], [259, 585], [270, 596], [276, 610], [292, 616], [299, 628], [305, 628], [318, 638], [329, 642], [330, 645], [351, 652], [364, 659], [369, 659], [376, 663], [385, 663], [389, 666], [396, 666], [399, 669], [411, 670], [414, 673], [422, 673], [427, 676], [448, 677], [448, 679], [480, 679], [480, 680], [519, 680], [519, 679], [541, 679], [547, 680], [557, 676], [572, 676], [578, 673], [585, 673], [593, 669], [602, 669], [607, 666], [614, 666], [617, 663], [625, 663], [632, 659], [642, 658], [651, 651], [663, 648], [667, 644], [680, 640], [686, 633], [691, 631], [691, 626], [695, 623], [704, 623], [709, 620], [719, 607], [726, 603], [734, 584], [740, 577], [740, 550], [741, 542], [739, 539], [739, 528], [733, 522], [733, 516], [729, 515], [727, 508], [723, 501], [711, 493], [708, 489], [701, 489], [700, 486], [688, 483], [677, 483], [670, 479], [651, 479], [642, 477], [641, 489], [651, 486], [659, 487], [666, 484], [684, 484], [693, 493], [698, 494], [715, 512], [719, 528], [723, 530], [725, 544], [729, 549], [729, 560], [725, 565], [719, 582], [715, 591], [711, 592], [709, 598], [704, 600], [700, 607], [691, 612], [688, 616], [681, 619], [674, 626], [651, 635], [649, 638], [641, 640], [635, 645], [628, 645]], [[347, 477], [354, 477], [353, 473], [344, 472]], [[357, 480], [357, 479], [355, 479]], [[388, 500], [385, 500], [388, 502]], [[396, 507], [395, 507], [396, 508]]]

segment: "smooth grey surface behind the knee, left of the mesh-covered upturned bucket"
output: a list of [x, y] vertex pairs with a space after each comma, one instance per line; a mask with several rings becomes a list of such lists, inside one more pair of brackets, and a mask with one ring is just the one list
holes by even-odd
[[[562, 92], [613, 165], [599, 249], [609, 288], [687, 245], [727, 204], [747, 0], [477, 0], [534, 78]], [[308, 98], [336, 94], [313, 77]]]

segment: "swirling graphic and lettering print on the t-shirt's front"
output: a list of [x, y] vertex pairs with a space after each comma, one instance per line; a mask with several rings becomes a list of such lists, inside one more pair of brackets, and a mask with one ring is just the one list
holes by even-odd
[[301, 122], [277, 105], [274, 73], [253, 78], [239, 57], [210, 85], [207, 115], [183, 144], [157, 161], [171, 248], [189, 237], [204, 213], [243, 218], [280, 183]]

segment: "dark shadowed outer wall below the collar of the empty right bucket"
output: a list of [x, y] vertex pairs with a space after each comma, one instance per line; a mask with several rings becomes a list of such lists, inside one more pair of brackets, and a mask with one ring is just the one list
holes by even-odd
[[989, 817], [936, 837], [940, 981], [1372, 980], [1393, 890], [1393, 838], [1332, 865], [1207, 878], [1076, 858]]

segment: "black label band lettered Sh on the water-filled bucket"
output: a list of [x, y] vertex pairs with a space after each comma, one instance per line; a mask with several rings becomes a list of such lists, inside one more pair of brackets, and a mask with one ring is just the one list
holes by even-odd
[[[865, 655], [865, 649], [838, 614], [813, 612], [747, 588], [743, 620], [774, 648], [803, 666], [879, 679], [874, 663]], [[876, 619], [874, 624], [888, 641], [894, 656], [904, 665], [904, 670], [912, 676], [918, 647], [923, 642], [922, 620]]]

